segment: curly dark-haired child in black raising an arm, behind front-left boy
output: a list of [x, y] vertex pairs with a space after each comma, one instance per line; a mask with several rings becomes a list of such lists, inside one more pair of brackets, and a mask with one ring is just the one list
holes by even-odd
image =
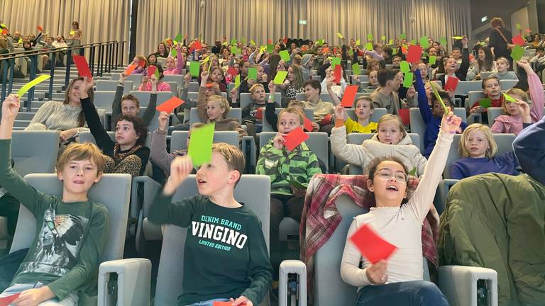
[[106, 155], [104, 157], [106, 159], [104, 173], [143, 175], [150, 157], [150, 149], [145, 147], [148, 129], [143, 120], [138, 116], [123, 114], [114, 118], [112, 125], [115, 126], [116, 140], [111, 140], [110, 135], [100, 122], [92, 98], [87, 95], [87, 90], [92, 86], [94, 86], [93, 79], [84, 78], [79, 87], [79, 96], [82, 99], [82, 109], [89, 130], [91, 130], [98, 147]]

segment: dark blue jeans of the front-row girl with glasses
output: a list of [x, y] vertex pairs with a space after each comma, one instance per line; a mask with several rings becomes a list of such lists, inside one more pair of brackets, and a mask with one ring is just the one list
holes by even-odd
[[356, 296], [356, 306], [374, 305], [448, 306], [448, 302], [434, 283], [412, 280], [361, 288]]

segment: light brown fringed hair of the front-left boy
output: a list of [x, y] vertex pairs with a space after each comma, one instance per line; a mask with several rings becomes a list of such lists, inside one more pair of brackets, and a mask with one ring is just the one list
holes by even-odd
[[72, 161], [82, 161], [89, 159], [97, 166], [97, 176], [104, 170], [104, 155], [101, 149], [91, 142], [76, 143], [72, 142], [57, 159], [57, 171], [62, 171], [65, 166]]

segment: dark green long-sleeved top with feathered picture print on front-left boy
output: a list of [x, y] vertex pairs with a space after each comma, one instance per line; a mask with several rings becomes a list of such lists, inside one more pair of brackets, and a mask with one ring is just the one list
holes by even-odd
[[109, 227], [107, 208], [91, 200], [64, 203], [36, 191], [11, 168], [11, 140], [0, 140], [0, 185], [36, 218], [34, 242], [11, 284], [39, 281], [59, 300], [85, 286], [96, 291]]

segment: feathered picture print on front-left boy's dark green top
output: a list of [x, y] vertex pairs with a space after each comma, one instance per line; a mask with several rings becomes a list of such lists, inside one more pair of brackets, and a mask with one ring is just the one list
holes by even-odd
[[64, 276], [77, 263], [89, 219], [77, 215], [56, 215], [49, 207], [43, 214], [35, 254], [21, 264], [21, 273], [49, 273]]

